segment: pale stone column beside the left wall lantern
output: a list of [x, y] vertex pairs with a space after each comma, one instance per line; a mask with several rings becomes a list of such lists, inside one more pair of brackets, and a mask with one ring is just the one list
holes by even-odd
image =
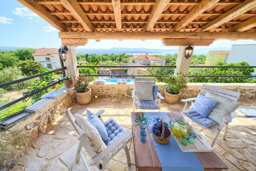
[[64, 63], [64, 66], [67, 67], [66, 75], [67, 76], [78, 76], [77, 60], [76, 60], [76, 50], [75, 46], [67, 46], [68, 54], [67, 60]]

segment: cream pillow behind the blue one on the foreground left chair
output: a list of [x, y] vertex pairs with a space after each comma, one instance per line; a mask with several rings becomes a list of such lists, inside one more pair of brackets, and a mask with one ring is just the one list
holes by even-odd
[[100, 153], [103, 149], [106, 148], [105, 143], [102, 141], [99, 132], [97, 129], [86, 120], [83, 116], [75, 114], [76, 124], [84, 131], [89, 141], [92, 144], [92, 148], [96, 153]]

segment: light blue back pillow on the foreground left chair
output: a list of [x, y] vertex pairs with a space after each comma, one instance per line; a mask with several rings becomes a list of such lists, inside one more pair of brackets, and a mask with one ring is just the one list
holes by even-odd
[[98, 116], [96, 116], [90, 110], [86, 110], [86, 116], [87, 116], [87, 120], [89, 120], [90, 123], [98, 130], [103, 142], [106, 143], [108, 141], [108, 133], [107, 133], [105, 125], [98, 118]]

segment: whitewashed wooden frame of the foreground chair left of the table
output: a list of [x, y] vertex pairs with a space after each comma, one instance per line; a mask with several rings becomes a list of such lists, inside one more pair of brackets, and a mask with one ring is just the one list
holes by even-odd
[[[102, 122], [103, 120], [100, 117], [100, 115], [103, 112], [104, 110], [100, 110], [99, 112], [95, 113], [95, 115], [97, 115]], [[121, 149], [124, 149], [125, 151], [127, 165], [131, 164], [130, 153], [129, 153], [129, 149], [127, 148], [127, 142], [129, 142], [132, 138], [131, 131], [124, 131], [122, 135], [115, 138], [114, 141], [111, 142], [111, 144], [107, 145], [105, 149], [103, 149], [100, 153], [97, 153], [93, 148], [92, 143], [89, 140], [89, 137], [87, 137], [83, 129], [77, 125], [69, 109], [65, 111], [65, 114], [68, 120], [70, 121], [71, 125], [73, 125], [73, 127], [75, 128], [76, 132], [79, 135], [78, 136], [79, 146], [76, 154], [76, 162], [78, 162], [79, 159], [81, 158], [83, 165], [85, 166], [85, 170], [90, 171], [90, 168], [87, 165], [87, 162], [85, 161], [85, 158], [81, 152], [82, 146], [84, 147], [84, 149], [86, 150], [86, 152], [89, 154], [91, 158], [90, 165], [95, 165], [100, 170], [104, 170], [108, 161], [112, 159]]]

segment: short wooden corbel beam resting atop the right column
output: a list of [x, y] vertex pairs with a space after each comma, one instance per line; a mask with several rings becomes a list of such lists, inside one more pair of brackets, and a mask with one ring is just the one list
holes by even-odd
[[164, 38], [165, 46], [209, 46], [215, 39], [192, 39], [192, 38]]

